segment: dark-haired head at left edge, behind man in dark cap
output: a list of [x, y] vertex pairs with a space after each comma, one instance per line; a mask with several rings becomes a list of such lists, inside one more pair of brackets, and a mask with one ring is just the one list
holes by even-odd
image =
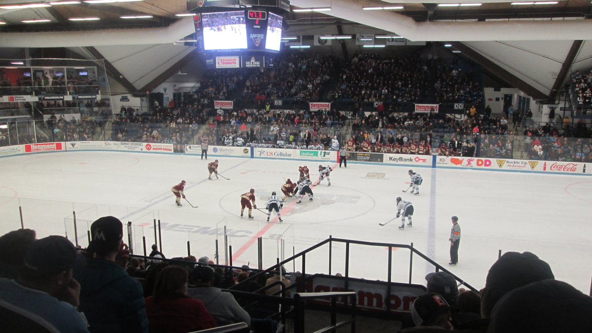
[[35, 241], [31, 229], [18, 229], [0, 237], [0, 277], [17, 278], [18, 269], [25, 260], [27, 249]]

